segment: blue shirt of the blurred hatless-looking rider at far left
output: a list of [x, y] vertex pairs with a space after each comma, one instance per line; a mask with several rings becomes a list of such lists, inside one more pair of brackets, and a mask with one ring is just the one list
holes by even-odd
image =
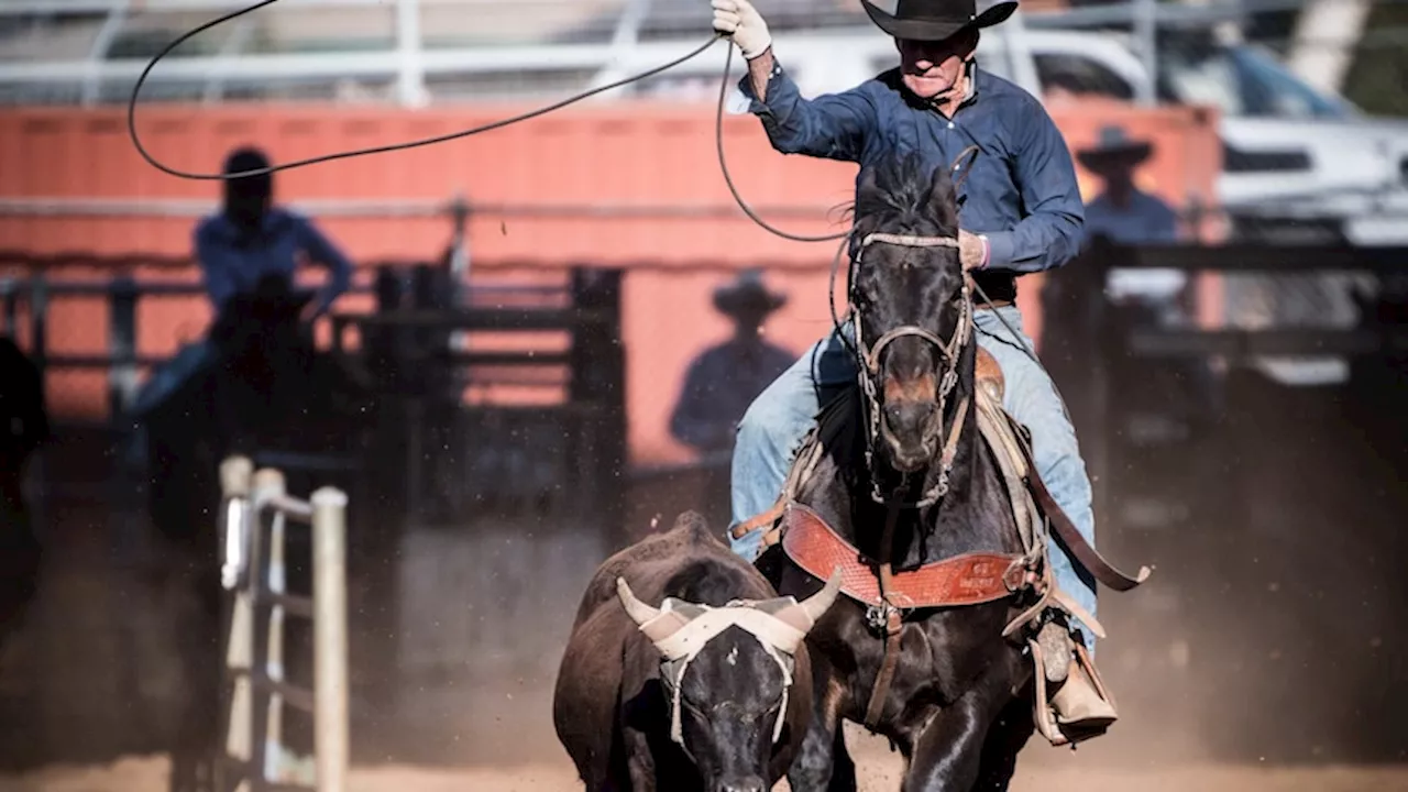
[[252, 290], [266, 273], [286, 275], [291, 283], [300, 254], [328, 268], [328, 283], [315, 303], [318, 313], [346, 292], [352, 280], [352, 264], [342, 251], [306, 217], [284, 209], [270, 209], [251, 240], [241, 240], [224, 214], [201, 220], [194, 237], [196, 259], [217, 313], [234, 295]]

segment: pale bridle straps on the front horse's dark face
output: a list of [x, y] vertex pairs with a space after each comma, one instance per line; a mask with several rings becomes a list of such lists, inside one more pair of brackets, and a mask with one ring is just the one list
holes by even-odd
[[[860, 240], [859, 249], [850, 264], [849, 290], [850, 290], [852, 306], [857, 304], [855, 299], [856, 273], [860, 269], [860, 262], [865, 258], [866, 248], [869, 248], [873, 244], [898, 245], [905, 248], [942, 247], [942, 248], [957, 249], [959, 247], [959, 241], [956, 237], [919, 237], [912, 234], [881, 234], [881, 233], [866, 234], [866, 237]], [[839, 251], [838, 251], [838, 258], [839, 258]], [[852, 348], [852, 352], [856, 355], [856, 362], [857, 362], [856, 379], [859, 380], [860, 392], [867, 406], [866, 468], [872, 471], [872, 474], [874, 471], [876, 447], [879, 445], [881, 438], [890, 435], [890, 430], [884, 426], [884, 417], [880, 413], [879, 388], [876, 386], [876, 380], [880, 378], [880, 355], [890, 344], [905, 337], [922, 338], [924, 341], [928, 341], [929, 345], [932, 345], [935, 349], [939, 351], [939, 357], [942, 358], [939, 362], [942, 373], [939, 378], [939, 393], [938, 393], [938, 402], [939, 402], [938, 412], [941, 420], [934, 428], [926, 430], [924, 435], [925, 443], [932, 441], [938, 433], [943, 431], [942, 416], [946, 412], [949, 395], [953, 392], [953, 388], [959, 382], [959, 357], [963, 354], [963, 348], [973, 338], [973, 300], [970, 296], [969, 283], [970, 280], [964, 275], [959, 300], [960, 304], [959, 310], [962, 313], [959, 314], [957, 327], [953, 330], [953, 335], [946, 341], [941, 338], [938, 334], [931, 333], [929, 330], [925, 330], [919, 326], [901, 324], [900, 327], [887, 330], [873, 342], [867, 344], [860, 327], [860, 311], [856, 307], [852, 309], [850, 323], [856, 338], [856, 345]], [[845, 338], [843, 334], [842, 338]], [[966, 407], [966, 404], [963, 404], [963, 407]], [[949, 474], [953, 469], [953, 457], [957, 450], [959, 435], [963, 430], [964, 413], [966, 409], [960, 409], [955, 414], [953, 424], [949, 428], [949, 438], [943, 444], [943, 452], [939, 458], [938, 481], [934, 483], [934, 486], [931, 486], [921, 495], [919, 500], [917, 500], [912, 505], [914, 507], [924, 509], [932, 506], [945, 495], [948, 495]], [[893, 505], [890, 497], [880, 490], [879, 476], [874, 475], [870, 476], [870, 497], [876, 503]]]

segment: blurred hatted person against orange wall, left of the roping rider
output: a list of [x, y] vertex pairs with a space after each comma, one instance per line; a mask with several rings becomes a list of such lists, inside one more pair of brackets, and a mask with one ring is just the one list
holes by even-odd
[[704, 349], [690, 364], [670, 416], [670, 434], [676, 440], [704, 455], [732, 451], [743, 412], [797, 359], [762, 334], [767, 316], [786, 303], [784, 295], [763, 285], [756, 269], [715, 289], [714, 307], [734, 320], [734, 337]]

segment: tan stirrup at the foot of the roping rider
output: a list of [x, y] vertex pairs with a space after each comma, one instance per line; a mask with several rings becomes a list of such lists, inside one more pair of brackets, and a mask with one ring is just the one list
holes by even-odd
[[1048, 695], [1045, 657], [1035, 640], [1028, 640], [1035, 664], [1036, 693], [1032, 720], [1052, 745], [1071, 745], [1100, 737], [1119, 719], [1115, 700], [1105, 688], [1086, 645], [1074, 641], [1067, 679]]

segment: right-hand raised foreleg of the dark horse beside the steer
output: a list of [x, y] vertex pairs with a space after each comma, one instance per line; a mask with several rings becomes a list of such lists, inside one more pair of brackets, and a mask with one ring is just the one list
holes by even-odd
[[993, 672], [919, 734], [903, 792], [969, 792], [983, 768], [990, 727], [1011, 700], [1011, 678]]

